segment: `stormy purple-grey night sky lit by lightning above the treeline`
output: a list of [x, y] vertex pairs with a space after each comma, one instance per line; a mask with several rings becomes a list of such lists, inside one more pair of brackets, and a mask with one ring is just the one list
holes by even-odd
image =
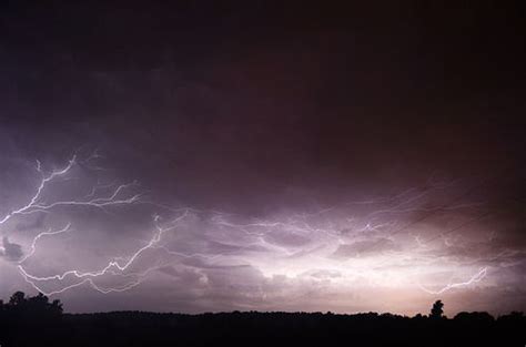
[[523, 14], [2, 1], [0, 298], [525, 310]]

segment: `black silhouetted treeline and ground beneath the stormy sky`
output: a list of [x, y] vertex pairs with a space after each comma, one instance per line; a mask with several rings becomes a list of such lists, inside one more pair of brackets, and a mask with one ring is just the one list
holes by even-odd
[[11, 346], [520, 346], [522, 313], [403, 317], [390, 314], [118, 312], [62, 314], [44, 296], [0, 305], [0, 345]]

